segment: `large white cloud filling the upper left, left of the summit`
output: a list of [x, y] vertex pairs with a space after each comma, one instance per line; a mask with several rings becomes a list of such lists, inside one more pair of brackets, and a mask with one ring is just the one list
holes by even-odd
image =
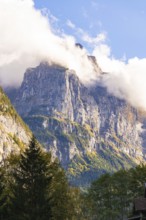
[[90, 81], [89, 73], [92, 76], [96, 74], [86, 50], [77, 48], [73, 37], [64, 34], [58, 36], [50, 23], [41, 11], [34, 8], [32, 0], [1, 0], [2, 85], [20, 85], [25, 70], [41, 61], [74, 69], [84, 82]]

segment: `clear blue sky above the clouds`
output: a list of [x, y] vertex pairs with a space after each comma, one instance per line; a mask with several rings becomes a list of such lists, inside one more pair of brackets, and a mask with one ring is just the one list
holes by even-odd
[[[38, 9], [47, 8], [58, 19], [56, 27], [82, 42], [67, 20], [91, 37], [106, 34], [106, 44], [112, 55], [121, 58], [146, 57], [146, 1], [145, 0], [35, 0]], [[90, 48], [89, 48], [90, 49]]]

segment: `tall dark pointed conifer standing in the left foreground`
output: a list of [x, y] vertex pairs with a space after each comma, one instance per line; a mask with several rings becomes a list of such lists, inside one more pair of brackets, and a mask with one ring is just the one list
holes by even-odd
[[51, 155], [44, 153], [33, 137], [14, 170], [12, 216], [17, 220], [49, 220]]

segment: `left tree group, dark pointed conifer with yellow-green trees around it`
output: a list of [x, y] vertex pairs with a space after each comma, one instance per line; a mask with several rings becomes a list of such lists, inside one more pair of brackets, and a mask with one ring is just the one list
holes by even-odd
[[81, 219], [79, 192], [34, 137], [20, 156], [4, 161], [0, 180], [0, 220]]

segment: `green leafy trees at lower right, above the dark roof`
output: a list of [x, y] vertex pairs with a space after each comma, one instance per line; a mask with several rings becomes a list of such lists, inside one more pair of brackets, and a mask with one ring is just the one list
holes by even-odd
[[87, 199], [92, 219], [124, 220], [132, 212], [134, 198], [144, 196], [146, 165], [104, 174], [91, 184]]

